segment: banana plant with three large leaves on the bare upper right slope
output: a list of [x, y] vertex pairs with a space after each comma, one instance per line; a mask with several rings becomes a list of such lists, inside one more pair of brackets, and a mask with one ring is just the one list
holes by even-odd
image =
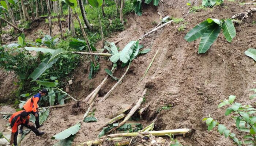
[[206, 53], [218, 38], [221, 29], [223, 30], [223, 35], [227, 41], [232, 42], [232, 39], [236, 36], [236, 29], [230, 19], [219, 20], [208, 18], [206, 21], [198, 24], [190, 30], [184, 39], [188, 42], [192, 42], [201, 38], [198, 53]]

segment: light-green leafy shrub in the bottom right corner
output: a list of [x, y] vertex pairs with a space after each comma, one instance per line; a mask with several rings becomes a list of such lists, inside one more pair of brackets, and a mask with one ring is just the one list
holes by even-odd
[[[251, 89], [256, 93], [256, 89]], [[256, 97], [256, 94], [250, 96], [250, 99]], [[216, 120], [210, 117], [204, 118], [203, 121], [206, 121], [208, 126], [208, 131], [212, 130], [214, 127], [218, 126], [219, 134], [229, 137], [237, 146], [256, 146], [256, 109], [251, 105], [242, 105], [240, 103], [234, 103], [236, 96], [229, 96], [229, 100], [223, 100], [218, 108], [221, 108], [225, 105], [230, 105], [226, 108], [225, 115], [228, 116], [233, 113], [232, 116], [236, 120], [236, 128], [241, 131], [239, 132], [239, 137], [242, 136], [242, 139], [238, 139], [236, 134], [231, 133], [223, 124], [218, 123]]]

